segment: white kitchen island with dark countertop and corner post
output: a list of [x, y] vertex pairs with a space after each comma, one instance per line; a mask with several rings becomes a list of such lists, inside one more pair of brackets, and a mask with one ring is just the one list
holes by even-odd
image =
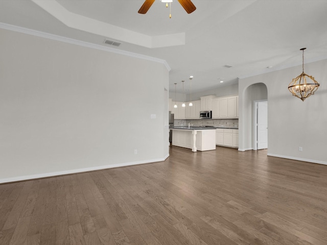
[[173, 127], [172, 145], [196, 151], [216, 150], [216, 129], [201, 127]]

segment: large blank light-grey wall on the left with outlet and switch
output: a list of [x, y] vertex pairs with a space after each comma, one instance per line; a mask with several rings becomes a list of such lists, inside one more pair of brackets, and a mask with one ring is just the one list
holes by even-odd
[[163, 63], [0, 36], [0, 182], [168, 157]]

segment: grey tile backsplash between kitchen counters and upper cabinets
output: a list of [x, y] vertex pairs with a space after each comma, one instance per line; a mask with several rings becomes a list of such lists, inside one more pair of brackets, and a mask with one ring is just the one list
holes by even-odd
[[174, 126], [214, 126], [215, 128], [239, 128], [239, 119], [175, 119]]

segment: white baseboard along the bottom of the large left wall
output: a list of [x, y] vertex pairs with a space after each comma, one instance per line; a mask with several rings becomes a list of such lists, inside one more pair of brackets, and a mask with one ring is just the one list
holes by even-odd
[[169, 154], [166, 155], [164, 158], [158, 158], [158, 159], [150, 159], [150, 160], [144, 160], [144, 161], [126, 162], [126, 163], [119, 163], [119, 164], [111, 164], [111, 165], [103, 165], [103, 166], [96, 166], [96, 167], [86, 167], [86, 168], [78, 168], [78, 169], [65, 170], [65, 171], [57, 171], [57, 172], [37, 174], [37, 175], [5, 178], [5, 179], [0, 179], [0, 184], [17, 182], [17, 181], [25, 181], [25, 180], [33, 180], [33, 179], [41, 179], [41, 178], [47, 178], [47, 177], [55, 177], [55, 176], [61, 176], [61, 175], [72, 175], [72, 174], [78, 174], [78, 173], [84, 173], [84, 172], [96, 171], [96, 170], [102, 170], [102, 169], [109, 169], [109, 168], [115, 168], [115, 167], [126, 167], [126, 166], [146, 164], [146, 163], [162, 162], [162, 161], [165, 161], [168, 157], [169, 157]]

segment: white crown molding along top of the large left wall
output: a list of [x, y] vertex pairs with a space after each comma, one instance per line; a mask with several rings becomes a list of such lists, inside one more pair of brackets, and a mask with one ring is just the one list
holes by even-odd
[[24, 28], [24, 27], [14, 26], [12, 24], [7, 24], [7, 23], [3, 23], [3, 22], [0, 22], [0, 28], [9, 30], [9, 31], [13, 31], [13, 32], [19, 32], [19, 33], [32, 35], [32, 36], [51, 39], [51, 40], [55, 40], [55, 41], [59, 41], [59, 42], [65, 42], [65, 43], [75, 44], [75, 45], [79, 45], [79, 46], [83, 46], [83, 47], [94, 48], [96, 50], [101, 50], [104, 52], [110, 52], [110, 53], [114, 53], [114, 54], [130, 56], [130, 57], [137, 58], [137, 59], [158, 62], [158, 63], [164, 64], [168, 71], [171, 70], [171, 68], [168, 65], [168, 63], [166, 62], [166, 60], [162, 60], [162, 59], [158, 59], [158, 58], [154, 58], [154, 57], [150, 57], [150, 56], [146, 56], [146, 55], [136, 54], [136, 53], [132, 53], [132, 52], [124, 51], [124, 50], [117, 50], [112, 47], [105, 47], [105, 46], [95, 44], [95, 43], [84, 42], [84, 41], [73, 39], [73, 38], [68, 38], [68, 37], [63, 37], [63, 36], [54, 35], [54, 34], [50, 34], [50, 33], [40, 32], [40, 31], [36, 31], [36, 30]]

